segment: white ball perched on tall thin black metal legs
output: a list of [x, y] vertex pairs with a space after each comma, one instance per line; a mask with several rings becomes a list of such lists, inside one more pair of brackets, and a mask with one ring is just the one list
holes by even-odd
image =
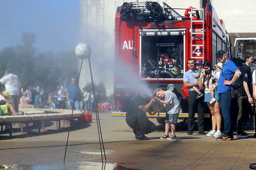
[[[106, 162], [107, 159], [106, 159], [106, 152], [105, 152], [105, 148], [104, 148], [104, 142], [103, 142], [101, 127], [100, 127], [98, 103], [97, 103], [97, 99], [96, 99], [95, 87], [94, 87], [93, 76], [92, 76], [92, 67], [91, 67], [91, 62], [90, 62], [92, 50], [91, 50], [90, 46], [88, 46], [84, 43], [80, 43], [79, 45], [76, 46], [75, 53], [79, 59], [82, 59], [80, 70], [79, 70], [78, 82], [79, 82], [79, 78], [80, 78], [80, 74], [81, 74], [81, 67], [83, 65], [83, 60], [88, 59], [88, 62], [89, 62], [90, 74], [91, 74], [91, 79], [92, 79], [93, 96], [95, 99], [95, 113], [96, 113], [95, 115], [96, 115], [97, 129], [98, 129], [98, 135], [99, 135], [100, 153], [101, 153], [102, 163], [104, 163], [104, 160]], [[77, 85], [77, 88], [78, 88], [78, 85]], [[76, 90], [76, 92], [77, 92], [77, 90]], [[72, 117], [73, 117], [74, 106], [72, 108], [73, 108], [72, 109]], [[71, 120], [72, 120], [72, 117], [71, 117]], [[70, 122], [70, 125], [71, 125], [71, 122]], [[71, 127], [70, 127], [70, 129], [71, 129]], [[68, 131], [68, 138], [69, 138], [69, 133], [70, 133], [70, 130]], [[64, 162], [65, 162], [65, 157], [66, 157], [66, 153], [67, 153], [68, 138], [67, 138], [67, 144], [66, 144], [66, 149], [65, 149]], [[104, 154], [104, 158], [103, 158], [103, 154]]]

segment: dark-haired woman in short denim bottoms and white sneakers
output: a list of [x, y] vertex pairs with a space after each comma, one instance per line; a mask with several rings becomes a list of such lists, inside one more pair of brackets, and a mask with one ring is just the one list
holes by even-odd
[[221, 115], [220, 115], [220, 106], [218, 102], [210, 103], [211, 101], [211, 87], [214, 83], [212, 79], [212, 64], [208, 60], [204, 62], [204, 70], [199, 79], [199, 88], [204, 89], [204, 102], [207, 103], [209, 110], [212, 115], [212, 130], [206, 134], [206, 136], [213, 136], [214, 138], [218, 138], [221, 136]]

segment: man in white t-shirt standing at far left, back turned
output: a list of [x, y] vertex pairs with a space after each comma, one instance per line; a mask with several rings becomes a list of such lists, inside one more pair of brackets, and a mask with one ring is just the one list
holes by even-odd
[[10, 101], [12, 101], [15, 111], [19, 111], [19, 100], [21, 92], [21, 84], [19, 77], [12, 73], [12, 68], [6, 69], [0, 83], [5, 85], [5, 90], [10, 92]]

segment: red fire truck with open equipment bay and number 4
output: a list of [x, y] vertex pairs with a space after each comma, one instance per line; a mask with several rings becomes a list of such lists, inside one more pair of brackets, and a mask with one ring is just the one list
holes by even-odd
[[[166, 3], [131, 2], [116, 10], [115, 59], [152, 91], [172, 83], [184, 113], [188, 113], [188, 89], [183, 85], [188, 59], [209, 60], [214, 66], [218, 50], [230, 53], [230, 37], [211, 3], [203, 9], [175, 9]], [[114, 96], [120, 111], [126, 111], [133, 90], [116, 78]]]

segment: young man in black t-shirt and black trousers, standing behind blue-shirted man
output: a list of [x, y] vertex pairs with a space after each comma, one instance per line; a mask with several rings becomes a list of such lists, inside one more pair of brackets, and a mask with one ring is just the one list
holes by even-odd
[[243, 80], [243, 85], [239, 88], [238, 102], [238, 115], [237, 115], [237, 138], [246, 138], [248, 134], [244, 132], [244, 125], [251, 113], [251, 104], [253, 104], [252, 99], [252, 72], [250, 66], [253, 64], [253, 54], [246, 52], [244, 54], [245, 64], [240, 68], [241, 76], [240, 79]]

